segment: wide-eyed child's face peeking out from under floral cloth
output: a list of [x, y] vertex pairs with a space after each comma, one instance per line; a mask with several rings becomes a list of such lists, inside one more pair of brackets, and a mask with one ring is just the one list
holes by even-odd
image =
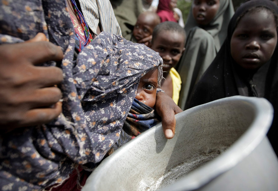
[[139, 82], [135, 98], [153, 108], [156, 100], [156, 88], [158, 84], [158, 69], [149, 71]]

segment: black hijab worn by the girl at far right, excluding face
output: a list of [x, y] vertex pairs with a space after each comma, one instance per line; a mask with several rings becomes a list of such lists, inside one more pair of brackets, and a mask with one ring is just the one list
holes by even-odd
[[[248, 72], [239, 67], [231, 57], [230, 41], [236, 28], [237, 19], [246, 10], [256, 6], [267, 7], [278, 14], [278, 6], [268, 0], [251, 0], [243, 3], [237, 9], [229, 23], [228, 36], [224, 44], [208, 70], [194, 87], [186, 108], [233, 95], [255, 96], [255, 89], [258, 97], [266, 98], [274, 107], [274, 121], [267, 135], [277, 153], [278, 45], [276, 45], [270, 61], [252, 73], [251, 70]], [[247, 74], [249, 75], [246, 76]], [[256, 85], [255, 88], [248, 80], [250, 76]], [[252, 90], [252, 88], [254, 89]]]

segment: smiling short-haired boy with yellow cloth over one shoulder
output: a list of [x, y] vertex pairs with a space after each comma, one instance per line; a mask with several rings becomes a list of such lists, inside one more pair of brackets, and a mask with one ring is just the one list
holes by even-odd
[[157, 51], [163, 59], [163, 80], [161, 89], [177, 104], [181, 80], [173, 68], [184, 51], [186, 34], [184, 29], [175, 22], [166, 21], [154, 28], [151, 48]]

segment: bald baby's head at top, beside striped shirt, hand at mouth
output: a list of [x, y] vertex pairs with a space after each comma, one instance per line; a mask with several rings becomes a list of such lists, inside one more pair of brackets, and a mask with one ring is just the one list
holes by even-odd
[[152, 35], [156, 25], [153, 15], [141, 14], [133, 28], [133, 36], [137, 41]]

